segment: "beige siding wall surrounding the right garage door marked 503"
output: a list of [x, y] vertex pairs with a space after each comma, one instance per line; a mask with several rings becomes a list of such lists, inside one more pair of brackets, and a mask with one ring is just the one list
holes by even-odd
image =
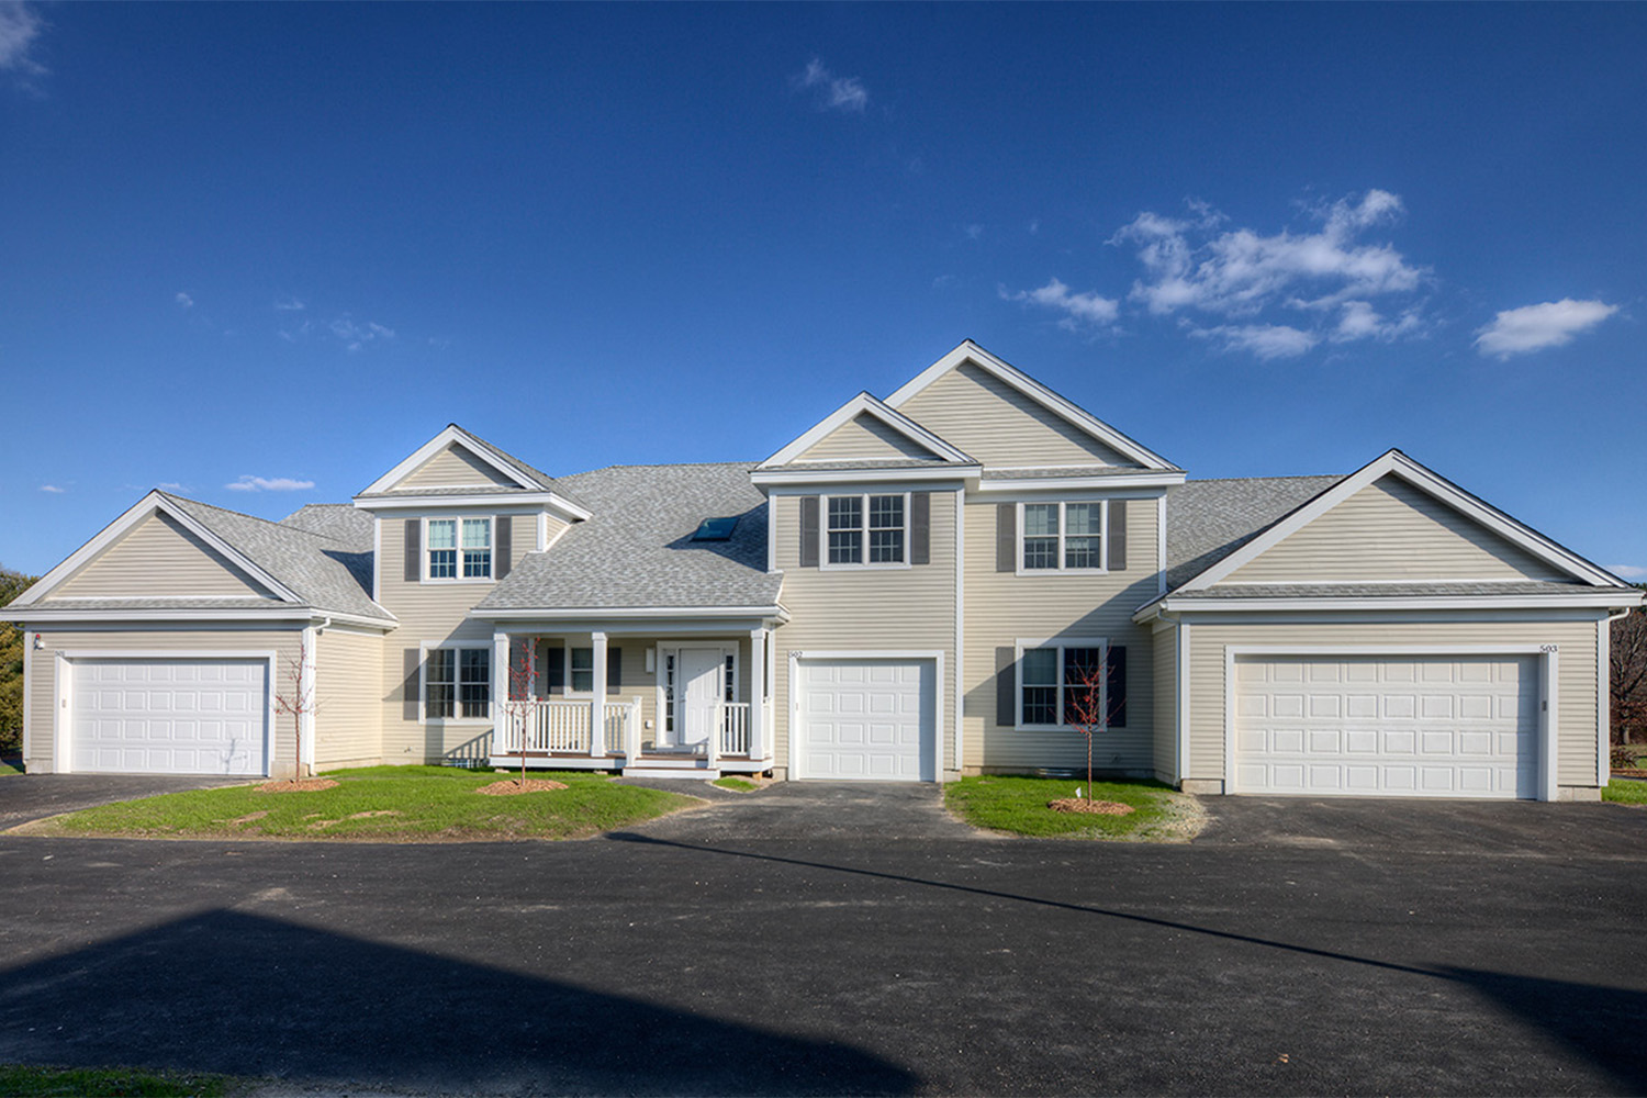
[[1224, 655], [1227, 645], [1560, 645], [1556, 663], [1560, 785], [1596, 784], [1596, 619], [1383, 622], [1240, 622], [1196, 619], [1189, 629], [1189, 772], [1224, 780]]

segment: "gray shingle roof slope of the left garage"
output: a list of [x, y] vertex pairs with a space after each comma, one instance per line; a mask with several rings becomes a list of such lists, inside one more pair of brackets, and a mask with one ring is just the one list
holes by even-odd
[[[359, 617], [395, 621], [372, 601], [372, 553], [308, 530], [254, 519], [181, 495], [161, 492], [168, 504], [189, 515], [254, 565], [287, 586], [306, 606]], [[265, 603], [267, 606], [267, 603]]]

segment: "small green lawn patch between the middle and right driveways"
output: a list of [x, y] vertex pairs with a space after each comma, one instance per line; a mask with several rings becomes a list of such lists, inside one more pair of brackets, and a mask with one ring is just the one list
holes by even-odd
[[1125, 817], [1052, 812], [1049, 800], [1074, 797], [1085, 780], [1049, 777], [963, 777], [944, 787], [950, 812], [975, 828], [1034, 838], [1141, 840], [1183, 843], [1202, 826], [1201, 805], [1159, 782], [1094, 782], [1094, 800], [1131, 805]]

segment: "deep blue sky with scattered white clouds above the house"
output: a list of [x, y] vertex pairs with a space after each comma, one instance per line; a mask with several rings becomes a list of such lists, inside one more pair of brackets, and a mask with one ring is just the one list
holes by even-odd
[[0, 0], [0, 563], [458, 421], [759, 459], [965, 337], [1647, 575], [1647, 7]]

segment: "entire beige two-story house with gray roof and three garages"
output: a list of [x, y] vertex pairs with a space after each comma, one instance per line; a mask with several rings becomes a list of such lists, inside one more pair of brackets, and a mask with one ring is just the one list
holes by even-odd
[[1097, 695], [1112, 774], [1551, 800], [1639, 601], [1400, 451], [1191, 481], [968, 341], [756, 466], [448, 426], [280, 523], [155, 491], [10, 616], [30, 770], [935, 782], [1075, 767]]

